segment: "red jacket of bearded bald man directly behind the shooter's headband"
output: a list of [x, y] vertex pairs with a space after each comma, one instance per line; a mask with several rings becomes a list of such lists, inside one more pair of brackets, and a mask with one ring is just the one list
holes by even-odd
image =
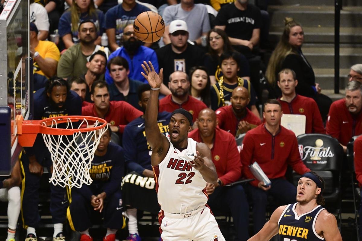
[[182, 104], [175, 103], [171, 98], [171, 94], [160, 100], [159, 112], [173, 112], [178, 108], [184, 108], [186, 111], [190, 112], [193, 116], [193, 121], [195, 121], [197, 117], [199, 117], [199, 112], [202, 109], [207, 108], [207, 106], [205, 103], [193, 98], [191, 95], [189, 95], [189, 98], [186, 100], [186, 102]]

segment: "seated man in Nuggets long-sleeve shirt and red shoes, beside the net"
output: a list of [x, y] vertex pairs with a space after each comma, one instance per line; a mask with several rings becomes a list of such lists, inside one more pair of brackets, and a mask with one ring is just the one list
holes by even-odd
[[67, 216], [73, 229], [81, 233], [81, 241], [93, 241], [89, 235], [92, 217], [97, 212], [102, 219], [107, 233], [103, 241], [115, 241], [115, 233], [124, 227], [122, 216], [121, 182], [125, 172], [125, 160], [122, 147], [111, 143], [111, 130], [100, 138], [94, 158], [90, 163], [89, 174], [93, 182], [72, 188], [71, 202]]

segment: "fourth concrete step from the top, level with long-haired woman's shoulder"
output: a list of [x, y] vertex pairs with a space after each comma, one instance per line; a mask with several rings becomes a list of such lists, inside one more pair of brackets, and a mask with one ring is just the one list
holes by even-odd
[[[334, 48], [306, 47], [302, 50], [313, 68], [334, 68]], [[357, 63], [362, 63], [362, 48], [340, 49], [340, 68], [348, 69]]]

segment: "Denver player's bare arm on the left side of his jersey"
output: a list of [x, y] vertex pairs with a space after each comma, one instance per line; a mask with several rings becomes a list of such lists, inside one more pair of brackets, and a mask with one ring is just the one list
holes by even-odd
[[274, 237], [278, 233], [278, 221], [285, 207], [278, 207], [270, 216], [270, 220], [264, 224], [264, 227], [253, 237], [249, 238], [248, 241], [269, 241]]

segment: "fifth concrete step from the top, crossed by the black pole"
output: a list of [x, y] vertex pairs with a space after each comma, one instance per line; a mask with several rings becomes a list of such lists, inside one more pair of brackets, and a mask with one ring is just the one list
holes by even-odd
[[[320, 69], [313, 68], [316, 83], [319, 83], [322, 89], [334, 89], [334, 69]], [[340, 69], [340, 88], [344, 89], [346, 83], [348, 82], [347, 75], [349, 73], [348, 69]]]

